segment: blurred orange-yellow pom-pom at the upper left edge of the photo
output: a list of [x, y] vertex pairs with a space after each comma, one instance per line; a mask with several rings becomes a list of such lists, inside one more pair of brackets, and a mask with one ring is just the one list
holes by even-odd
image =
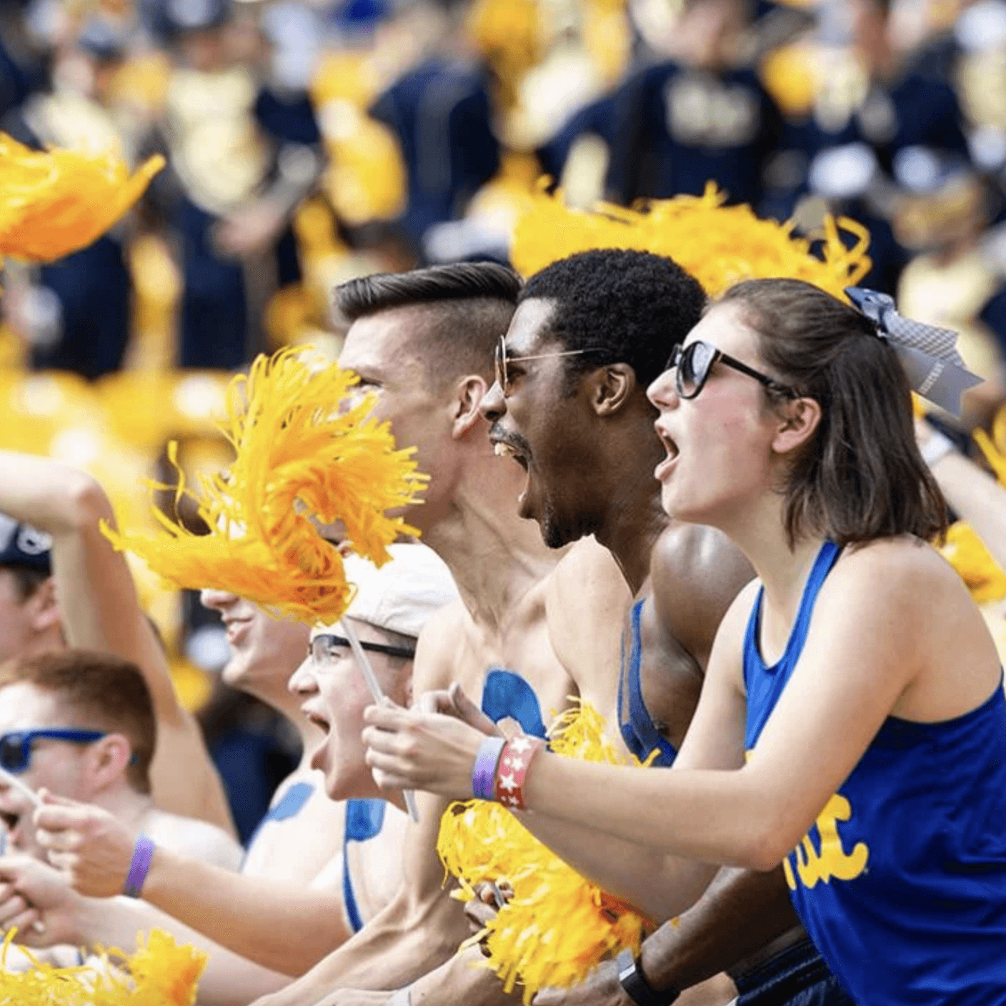
[[115, 154], [37, 151], [0, 133], [0, 256], [52, 262], [97, 240], [164, 167], [150, 158], [132, 177]]

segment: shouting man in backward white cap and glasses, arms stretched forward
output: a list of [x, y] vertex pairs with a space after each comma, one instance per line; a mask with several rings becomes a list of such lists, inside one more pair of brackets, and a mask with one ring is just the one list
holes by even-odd
[[[401, 544], [390, 550], [391, 561], [380, 569], [347, 557], [347, 579], [357, 591], [345, 618], [388, 697], [405, 702], [420, 630], [457, 592], [431, 549]], [[129, 887], [142, 836], [92, 807], [52, 804], [37, 812], [35, 824], [64, 876], [38, 866], [11, 881], [46, 928], [43, 938], [30, 938], [32, 946], [43, 940], [129, 945], [138, 931], [157, 927], [208, 952], [200, 1003], [237, 1006], [310, 967], [319, 940], [307, 931], [319, 931], [322, 942], [345, 940], [384, 906], [400, 881], [405, 815], [381, 799], [389, 795], [378, 790], [363, 760], [363, 709], [373, 699], [338, 632], [336, 626], [313, 634], [307, 659], [290, 682], [304, 699], [311, 733], [317, 735], [319, 726], [326, 733], [305, 758], [324, 772], [329, 796], [342, 801], [344, 810], [340, 852], [314, 881], [228, 874], [156, 846], [136, 891], [143, 900], [113, 900]], [[331, 844], [330, 838], [316, 836]], [[94, 900], [99, 897], [110, 899]], [[15, 917], [0, 901], [0, 924], [23, 929], [35, 917]], [[294, 960], [291, 946], [297, 942], [305, 951]]]

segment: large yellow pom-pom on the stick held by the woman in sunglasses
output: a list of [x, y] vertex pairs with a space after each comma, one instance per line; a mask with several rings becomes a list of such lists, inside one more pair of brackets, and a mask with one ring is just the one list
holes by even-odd
[[341, 521], [353, 549], [381, 565], [399, 534], [418, 533], [386, 512], [417, 502], [427, 476], [415, 471], [414, 449], [395, 450], [388, 425], [369, 415], [373, 395], [349, 403], [355, 374], [312, 367], [302, 352], [260, 356], [247, 378], [231, 380], [221, 429], [233, 464], [200, 475], [198, 494], [179, 481], [178, 498], [196, 501], [209, 534], [192, 534], [156, 507], [157, 537], [102, 530], [178, 586], [227, 591], [303, 622], [332, 623], [352, 586], [309, 515]]

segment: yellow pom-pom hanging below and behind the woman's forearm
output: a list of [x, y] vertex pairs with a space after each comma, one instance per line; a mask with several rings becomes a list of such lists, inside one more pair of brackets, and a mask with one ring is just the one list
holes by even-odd
[[[608, 765], [627, 761], [605, 736], [604, 717], [576, 701], [549, 731], [552, 750]], [[441, 820], [437, 851], [469, 900], [480, 883], [505, 881], [513, 897], [483, 936], [486, 966], [507, 992], [519, 982], [529, 1003], [546, 986], [581, 982], [601, 961], [625, 947], [634, 953], [651, 924], [623, 901], [584, 880], [499, 804], [452, 804]], [[477, 942], [473, 938], [466, 946]]]

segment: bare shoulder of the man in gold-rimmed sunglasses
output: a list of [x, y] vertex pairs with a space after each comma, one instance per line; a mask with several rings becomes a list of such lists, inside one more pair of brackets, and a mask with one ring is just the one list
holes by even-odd
[[720, 622], [753, 575], [746, 557], [721, 531], [672, 524], [658, 538], [650, 562], [661, 629], [704, 665]]

